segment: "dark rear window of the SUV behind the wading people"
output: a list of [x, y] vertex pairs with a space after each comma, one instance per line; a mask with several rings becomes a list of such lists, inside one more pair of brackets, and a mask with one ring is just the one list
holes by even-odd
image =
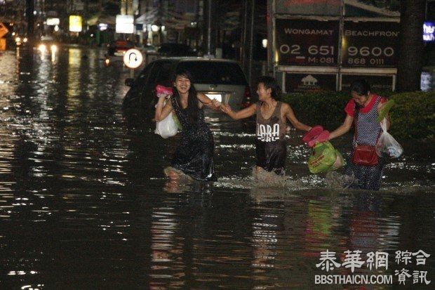
[[185, 61], [178, 69], [191, 72], [195, 84], [246, 85], [245, 75], [234, 62]]

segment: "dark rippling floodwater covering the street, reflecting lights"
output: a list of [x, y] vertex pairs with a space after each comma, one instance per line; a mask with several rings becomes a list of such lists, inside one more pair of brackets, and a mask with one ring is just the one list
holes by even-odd
[[[130, 72], [103, 53], [0, 54], [0, 289], [433, 289], [433, 145], [403, 142], [383, 189], [363, 192], [310, 175], [291, 131], [288, 177], [268, 186], [250, 177], [253, 124], [208, 119], [217, 182], [170, 184], [177, 138], [123, 114]], [[349, 152], [349, 136], [333, 143]], [[342, 265], [322, 269], [327, 250]], [[316, 284], [356, 274], [392, 284]]]

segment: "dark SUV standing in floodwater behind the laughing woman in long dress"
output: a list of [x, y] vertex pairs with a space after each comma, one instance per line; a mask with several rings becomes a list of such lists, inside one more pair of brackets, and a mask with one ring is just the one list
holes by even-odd
[[127, 92], [124, 107], [154, 110], [156, 85], [173, 86], [172, 78], [179, 69], [193, 75], [196, 91], [205, 93], [233, 109], [239, 110], [250, 103], [250, 89], [245, 74], [234, 60], [214, 58], [161, 58], [147, 65], [136, 79], [126, 79]]

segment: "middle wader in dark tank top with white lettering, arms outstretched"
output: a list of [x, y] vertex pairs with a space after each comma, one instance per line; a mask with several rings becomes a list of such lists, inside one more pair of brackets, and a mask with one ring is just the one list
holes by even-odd
[[[297, 129], [309, 131], [310, 126], [298, 121], [290, 105], [279, 101], [281, 89], [273, 77], [260, 77], [257, 81], [258, 102], [238, 112], [229, 105], [221, 105], [221, 110], [232, 119], [244, 119], [257, 116], [255, 152], [256, 169], [265, 169], [284, 174], [286, 164], [286, 121]], [[217, 106], [219, 104], [215, 104]]]

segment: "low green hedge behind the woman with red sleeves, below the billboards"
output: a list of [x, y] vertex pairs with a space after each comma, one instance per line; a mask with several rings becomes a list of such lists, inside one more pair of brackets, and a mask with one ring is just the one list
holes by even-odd
[[[376, 92], [377, 93], [377, 92]], [[391, 109], [391, 134], [397, 138], [434, 138], [435, 92], [378, 93], [395, 100]], [[350, 99], [349, 92], [291, 93], [283, 95], [297, 119], [313, 126], [322, 125], [328, 130], [340, 126], [346, 117], [344, 107]]]

